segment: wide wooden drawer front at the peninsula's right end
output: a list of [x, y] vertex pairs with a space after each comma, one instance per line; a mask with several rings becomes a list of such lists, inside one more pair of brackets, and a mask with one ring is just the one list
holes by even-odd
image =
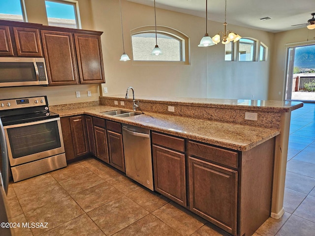
[[192, 141], [188, 143], [189, 155], [198, 156], [210, 161], [238, 168], [238, 153]]

